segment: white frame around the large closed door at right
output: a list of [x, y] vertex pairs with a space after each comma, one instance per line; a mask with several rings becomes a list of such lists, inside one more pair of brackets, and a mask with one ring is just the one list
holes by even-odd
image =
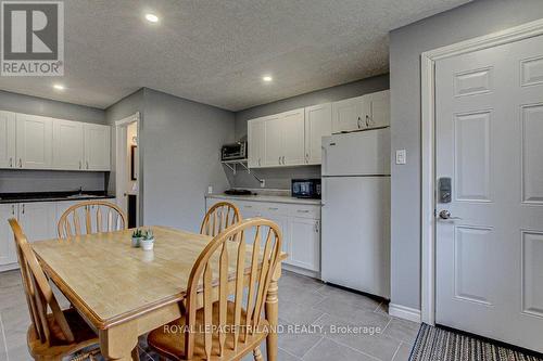
[[543, 35], [543, 20], [424, 52], [421, 76], [421, 321], [435, 324], [435, 62]]

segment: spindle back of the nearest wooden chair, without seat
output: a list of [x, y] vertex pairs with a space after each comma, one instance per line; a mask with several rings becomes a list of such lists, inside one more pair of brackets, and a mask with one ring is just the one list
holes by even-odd
[[[250, 241], [247, 234], [252, 234]], [[205, 247], [197, 262], [192, 267], [187, 287], [187, 312], [185, 330], [186, 357], [192, 359], [194, 351], [194, 330], [197, 321], [197, 309], [199, 308], [199, 293], [203, 299], [203, 330], [213, 328], [213, 273], [218, 274], [218, 337], [219, 357], [223, 356], [226, 343], [225, 330], [233, 330], [232, 345], [241, 341], [240, 330], [243, 331], [243, 339], [247, 341], [248, 334], [254, 334], [260, 326], [263, 314], [263, 306], [272, 281], [272, 276], [280, 258], [282, 234], [279, 227], [267, 219], [252, 218], [237, 223], [213, 238]], [[233, 243], [236, 253], [229, 254], [228, 245]], [[232, 249], [232, 248], [230, 248]], [[248, 249], [251, 252], [250, 259], [245, 260]], [[231, 274], [230, 257], [235, 260], [235, 274]], [[212, 267], [218, 268], [213, 270]], [[229, 295], [229, 286], [233, 286], [233, 295]], [[247, 299], [244, 291], [247, 288]], [[231, 289], [231, 288], [230, 288]], [[233, 296], [233, 297], [230, 297]], [[233, 324], [226, 325], [227, 302], [233, 302]], [[241, 320], [242, 308], [247, 312]], [[217, 326], [217, 325], [215, 325]], [[233, 327], [233, 328], [232, 328]], [[211, 359], [213, 349], [213, 334], [204, 332], [204, 349], [207, 360]]]

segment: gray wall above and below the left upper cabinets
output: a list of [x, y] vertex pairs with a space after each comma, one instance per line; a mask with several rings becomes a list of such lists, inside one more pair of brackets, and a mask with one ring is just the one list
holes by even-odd
[[[0, 90], [0, 111], [105, 124], [105, 112], [99, 108], [3, 90]], [[0, 170], [0, 193], [71, 191], [79, 186], [87, 191], [101, 191], [104, 178], [104, 172]]]

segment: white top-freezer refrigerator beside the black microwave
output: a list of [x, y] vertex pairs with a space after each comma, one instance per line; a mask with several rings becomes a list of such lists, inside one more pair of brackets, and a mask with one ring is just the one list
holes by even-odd
[[390, 299], [390, 129], [323, 138], [321, 279]]

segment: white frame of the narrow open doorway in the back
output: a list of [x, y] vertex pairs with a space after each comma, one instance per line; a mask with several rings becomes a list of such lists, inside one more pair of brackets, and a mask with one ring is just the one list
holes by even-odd
[[[123, 208], [125, 212], [128, 211], [127, 203], [125, 202], [125, 196], [123, 190], [126, 189], [126, 129], [128, 125], [132, 123], [137, 123], [138, 125], [138, 138], [140, 137], [140, 115], [139, 112], [115, 121], [115, 197], [117, 198], [117, 204]], [[138, 139], [139, 143], [139, 139]], [[139, 153], [138, 153], [139, 154]], [[141, 164], [141, 163], [139, 163]], [[138, 173], [141, 175], [141, 169], [138, 170]], [[141, 194], [141, 182], [140, 177], [138, 177], [138, 194]], [[140, 202], [140, 196], [138, 196], [138, 203]], [[140, 207], [138, 208], [138, 218], [140, 218]], [[139, 220], [137, 220], [137, 224], [139, 224]]]

